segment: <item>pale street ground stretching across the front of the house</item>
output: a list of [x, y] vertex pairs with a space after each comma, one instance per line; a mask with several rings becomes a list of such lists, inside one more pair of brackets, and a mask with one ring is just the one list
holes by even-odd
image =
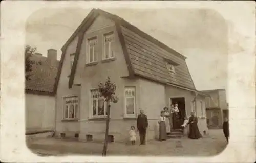
[[[108, 155], [134, 156], [213, 156], [222, 152], [227, 143], [222, 130], [210, 130], [210, 136], [193, 140], [188, 138], [167, 141], [147, 141], [145, 146], [110, 143]], [[101, 155], [103, 143], [77, 142], [55, 138], [35, 138], [27, 143], [32, 152], [40, 156], [86, 154]]]

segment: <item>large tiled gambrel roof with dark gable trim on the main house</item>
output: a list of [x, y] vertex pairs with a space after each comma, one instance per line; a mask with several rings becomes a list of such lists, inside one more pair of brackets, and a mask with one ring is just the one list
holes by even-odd
[[[123, 50], [124, 58], [127, 64], [127, 68], [129, 70], [130, 77], [140, 76], [143, 78], [154, 80], [156, 82], [160, 82], [164, 84], [167, 84], [169, 82], [169, 83], [172, 83], [173, 85], [189, 88], [190, 90], [196, 90], [194, 82], [191, 79], [190, 73], [188, 71], [188, 68], [185, 62], [185, 59], [186, 59], [185, 56], [178, 53], [174, 49], [169, 48], [167, 45], [156, 40], [152, 36], [142, 32], [137, 27], [131, 25], [129, 22], [123, 20], [117, 15], [110, 14], [100, 9], [93, 9], [87, 15], [87, 17], [82, 21], [82, 23], [75, 30], [75, 32], [68, 39], [68, 41], [61, 48], [62, 56], [60, 60], [60, 66], [58, 69], [57, 80], [55, 83], [56, 88], [59, 81], [60, 71], [63, 64], [64, 55], [65, 55], [67, 46], [71, 43], [71, 41], [75, 37], [78, 36], [79, 39], [78, 39], [77, 49], [76, 49], [74, 63], [72, 66], [71, 75], [69, 79], [69, 87], [70, 88], [72, 87], [74, 75], [76, 72], [76, 65], [79, 58], [79, 52], [81, 49], [83, 33], [91, 26], [93, 21], [99, 15], [109, 18], [115, 22], [116, 30], [118, 33], [120, 43], [122, 45], [122, 50]], [[131, 34], [133, 35], [132, 37], [130, 36]], [[151, 46], [151, 45], [147, 45], [145, 43], [143, 44], [139, 42], [139, 39], [141, 38], [145, 39], [147, 43], [150, 43], [151, 45], [155, 46], [154, 48], [156, 49], [158, 48], [158, 50], [151, 51], [150, 49], [147, 49], [148, 46]], [[143, 48], [144, 46], [147, 46], [147, 47]], [[139, 50], [140, 54], [137, 54], [137, 53], [135, 54], [134, 52], [132, 52], [133, 49]], [[145, 54], [145, 56], [141, 58], [142, 56], [141, 54], [142, 55]], [[146, 55], [153, 56], [153, 57], [155, 56], [155, 58], [152, 59]], [[166, 60], [168, 60], [170, 63], [175, 63], [177, 66], [180, 67], [178, 68], [178, 72], [177, 72], [178, 75], [169, 74], [165, 66]], [[152, 63], [154, 62], [154, 63], [147, 64], [148, 62], [152, 62]]]

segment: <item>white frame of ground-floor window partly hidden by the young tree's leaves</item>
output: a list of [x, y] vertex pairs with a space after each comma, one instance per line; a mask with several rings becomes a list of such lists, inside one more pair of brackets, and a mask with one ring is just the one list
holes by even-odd
[[[100, 98], [93, 98], [93, 91], [99, 90], [99, 88], [93, 88], [90, 89], [90, 119], [97, 119], [97, 118], [106, 118], [106, 107], [107, 107], [107, 102], [105, 101], [104, 97]], [[100, 94], [100, 92], [99, 92]], [[93, 101], [96, 99], [96, 115], [93, 115]], [[98, 105], [99, 105], [99, 100], [104, 100], [104, 115], [98, 115]]]

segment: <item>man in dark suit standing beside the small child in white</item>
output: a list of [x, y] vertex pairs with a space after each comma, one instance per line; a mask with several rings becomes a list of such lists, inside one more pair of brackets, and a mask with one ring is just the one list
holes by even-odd
[[137, 118], [137, 128], [140, 133], [140, 145], [146, 144], [146, 129], [148, 126], [147, 117], [143, 110], [140, 110], [140, 115]]

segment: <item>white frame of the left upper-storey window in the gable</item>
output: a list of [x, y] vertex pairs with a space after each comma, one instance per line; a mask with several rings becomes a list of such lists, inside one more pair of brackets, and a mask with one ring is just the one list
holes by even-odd
[[[96, 41], [96, 44], [93, 45], [93, 58], [92, 58], [92, 62], [90, 61], [90, 41], [92, 40], [95, 40]], [[93, 37], [90, 37], [90, 38], [87, 38], [86, 40], [86, 64], [90, 64], [90, 63], [95, 63], [98, 61], [98, 56], [96, 53], [95, 54], [95, 48], [97, 50], [97, 46], [98, 46], [98, 36], [93, 36]], [[95, 57], [96, 55], [96, 57]], [[95, 60], [96, 58], [96, 60]]]

